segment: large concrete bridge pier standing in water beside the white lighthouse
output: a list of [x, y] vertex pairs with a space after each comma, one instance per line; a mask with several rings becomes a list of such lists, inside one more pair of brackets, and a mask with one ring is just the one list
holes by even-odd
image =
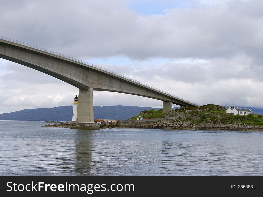
[[70, 129], [100, 129], [99, 123], [94, 123], [93, 89], [79, 89], [77, 121], [70, 124]]

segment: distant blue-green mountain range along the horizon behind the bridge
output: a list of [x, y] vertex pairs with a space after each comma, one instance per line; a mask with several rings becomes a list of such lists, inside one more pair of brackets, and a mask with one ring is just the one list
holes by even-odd
[[[60, 106], [54, 108], [23, 109], [17, 112], [0, 114], [0, 120], [37, 120], [37, 121], [71, 121], [73, 106]], [[227, 107], [226, 107], [227, 108]], [[242, 107], [244, 108], [244, 107]], [[248, 107], [253, 114], [262, 114], [263, 109]], [[132, 106], [94, 106], [94, 119], [120, 119], [128, 120], [143, 110], [161, 109], [153, 107], [132, 107]], [[175, 108], [173, 108], [175, 109]]]

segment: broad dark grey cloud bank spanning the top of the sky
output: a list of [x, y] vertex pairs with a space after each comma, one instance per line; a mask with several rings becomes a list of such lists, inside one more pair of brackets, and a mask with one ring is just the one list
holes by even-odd
[[253, 14], [262, 7], [259, 0], [145, 17], [120, 0], [23, 2], [2, 7], [1, 34], [71, 56], [209, 59], [262, 54], [262, 14], [259, 8]]

